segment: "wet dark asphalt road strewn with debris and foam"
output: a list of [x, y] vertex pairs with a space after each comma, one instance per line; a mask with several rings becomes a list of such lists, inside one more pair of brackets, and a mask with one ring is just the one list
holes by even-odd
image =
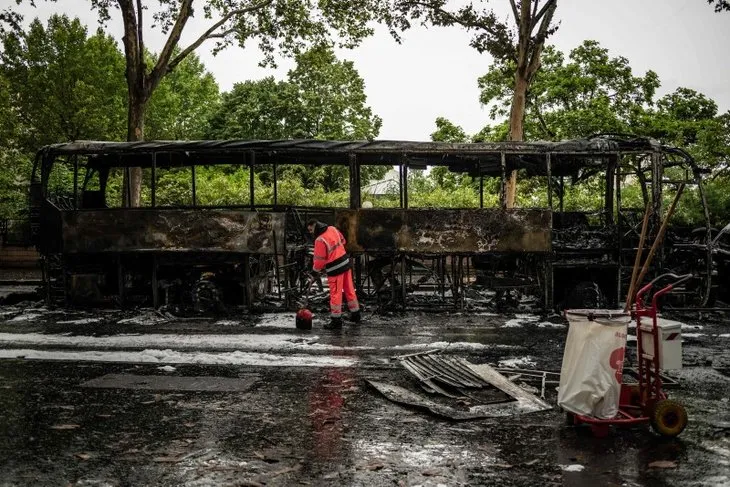
[[0, 306], [0, 485], [730, 485], [725, 316], [672, 316], [687, 327], [668, 393], [689, 413], [672, 440], [566, 426], [554, 385], [550, 411], [457, 422], [367, 383], [425, 395], [394, 357], [426, 350], [559, 371], [560, 316], [364, 318], [331, 332], [318, 317], [301, 332], [292, 313]]

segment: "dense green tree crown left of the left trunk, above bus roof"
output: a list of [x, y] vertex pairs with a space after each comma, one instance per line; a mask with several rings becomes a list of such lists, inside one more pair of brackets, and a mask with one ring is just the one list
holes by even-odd
[[27, 33], [6, 33], [2, 70], [19, 118], [18, 146], [33, 151], [80, 138], [119, 140], [126, 103], [124, 58], [114, 39], [87, 37], [78, 19], [38, 20]]

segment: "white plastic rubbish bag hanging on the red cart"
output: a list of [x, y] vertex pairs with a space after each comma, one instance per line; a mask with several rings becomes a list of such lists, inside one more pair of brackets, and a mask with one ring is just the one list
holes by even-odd
[[560, 369], [558, 405], [583, 416], [610, 419], [618, 413], [626, 332], [623, 310], [566, 310], [568, 338]]

